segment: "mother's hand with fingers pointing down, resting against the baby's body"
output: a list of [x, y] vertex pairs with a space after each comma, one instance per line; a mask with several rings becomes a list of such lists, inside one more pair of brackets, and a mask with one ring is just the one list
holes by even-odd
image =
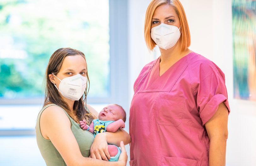
[[107, 138], [104, 133], [99, 133], [96, 135], [91, 145], [90, 153], [91, 153], [90, 154], [91, 158], [105, 160], [105, 161], [108, 161], [110, 159], [110, 155], [108, 153]]

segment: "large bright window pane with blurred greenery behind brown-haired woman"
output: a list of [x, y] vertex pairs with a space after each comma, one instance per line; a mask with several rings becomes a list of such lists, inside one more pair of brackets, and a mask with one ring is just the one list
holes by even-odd
[[0, 99], [40, 98], [49, 57], [61, 47], [84, 52], [89, 97], [108, 97], [109, 4], [97, 2], [0, 1]]

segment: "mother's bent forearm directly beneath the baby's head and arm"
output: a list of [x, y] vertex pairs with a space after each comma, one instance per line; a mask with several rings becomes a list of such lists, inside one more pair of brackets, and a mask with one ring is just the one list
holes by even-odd
[[108, 144], [120, 146], [120, 142], [123, 141], [125, 145], [131, 142], [131, 137], [129, 133], [127, 133], [123, 129], [119, 129], [116, 132], [104, 132], [106, 134], [106, 139]]

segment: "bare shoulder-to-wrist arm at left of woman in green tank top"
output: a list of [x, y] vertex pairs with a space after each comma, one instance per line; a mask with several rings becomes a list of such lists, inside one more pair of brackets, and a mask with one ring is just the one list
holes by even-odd
[[41, 115], [40, 130], [43, 137], [51, 140], [67, 166], [126, 165], [127, 158], [125, 161], [125, 154], [122, 155], [118, 162], [106, 162], [83, 157], [70, 127], [71, 123], [67, 115], [57, 106], [46, 108]]

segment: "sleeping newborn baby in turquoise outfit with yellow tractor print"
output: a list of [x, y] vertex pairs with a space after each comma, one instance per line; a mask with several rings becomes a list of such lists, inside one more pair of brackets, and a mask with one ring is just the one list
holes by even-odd
[[[104, 107], [98, 118], [93, 120], [90, 126], [84, 120], [80, 121], [80, 127], [90, 131], [94, 136], [104, 131], [116, 132], [119, 128], [125, 128], [126, 113], [123, 107], [118, 104], [109, 104]], [[121, 150], [115, 145], [108, 145], [108, 153], [110, 154], [108, 161], [118, 161]]]

